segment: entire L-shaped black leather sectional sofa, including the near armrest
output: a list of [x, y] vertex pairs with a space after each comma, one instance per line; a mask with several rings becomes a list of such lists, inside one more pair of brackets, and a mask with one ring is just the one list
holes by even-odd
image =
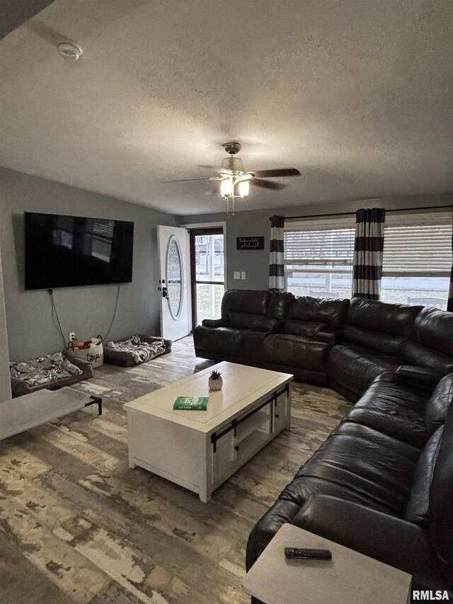
[[256, 523], [248, 569], [292, 523], [453, 598], [453, 313], [230, 290], [194, 340], [357, 401]]

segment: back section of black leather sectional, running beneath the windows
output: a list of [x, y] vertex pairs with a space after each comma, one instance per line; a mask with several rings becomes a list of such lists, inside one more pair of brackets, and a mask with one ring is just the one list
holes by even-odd
[[229, 290], [222, 318], [195, 327], [195, 353], [331, 384], [355, 401], [383, 372], [453, 371], [453, 313], [363, 298]]

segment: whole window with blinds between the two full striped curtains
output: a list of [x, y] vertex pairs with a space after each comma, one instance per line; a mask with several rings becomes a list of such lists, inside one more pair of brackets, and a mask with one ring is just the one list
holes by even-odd
[[294, 295], [350, 297], [355, 219], [285, 223], [285, 289]]

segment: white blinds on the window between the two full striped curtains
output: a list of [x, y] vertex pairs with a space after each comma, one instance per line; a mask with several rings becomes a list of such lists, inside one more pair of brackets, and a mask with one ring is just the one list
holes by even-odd
[[352, 266], [355, 219], [285, 222], [285, 265], [331, 273]]

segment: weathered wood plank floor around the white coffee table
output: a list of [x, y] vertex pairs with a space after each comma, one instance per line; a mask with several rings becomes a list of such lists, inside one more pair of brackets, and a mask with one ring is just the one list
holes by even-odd
[[210, 503], [127, 467], [122, 404], [211, 365], [192, 338], [137, 367], [103, 365], [76, 384], [103, 397], [0, 442], [1, 604], [242, 604], [248, 533], [349, 408], [294, 382], [292, 427]]

